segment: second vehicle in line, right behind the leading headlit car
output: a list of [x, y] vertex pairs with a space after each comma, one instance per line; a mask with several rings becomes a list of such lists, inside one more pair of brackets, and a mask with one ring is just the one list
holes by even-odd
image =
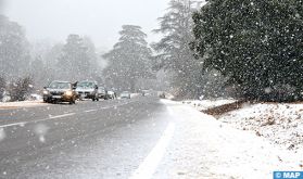
[[80, 100], [91, 99], [92, 101], [99, 101], [97, 81], [84, 80], [77, 82], [76, 92]]

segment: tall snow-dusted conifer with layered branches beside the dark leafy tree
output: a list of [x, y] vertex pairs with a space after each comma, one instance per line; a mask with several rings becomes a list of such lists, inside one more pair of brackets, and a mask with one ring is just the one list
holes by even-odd
[[193, 40], [191, 15], [200, 4], [192, 0], [171, 0], [168, 12], [159, 18], [160, 28], [154, 30], [164, 35], [153, 44], [157, 52], [155, 66], [175, 74], [172, 84], [179, 97], [198, 95], [202, 88], [202, 63], [193, 57], [189, 47]]

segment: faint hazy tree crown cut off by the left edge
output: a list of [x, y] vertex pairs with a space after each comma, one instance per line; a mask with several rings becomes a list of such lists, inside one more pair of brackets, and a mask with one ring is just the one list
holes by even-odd
[[0, 75], [11, 78], [24, 75], [30, 56], [22, 27], [0, 14]]

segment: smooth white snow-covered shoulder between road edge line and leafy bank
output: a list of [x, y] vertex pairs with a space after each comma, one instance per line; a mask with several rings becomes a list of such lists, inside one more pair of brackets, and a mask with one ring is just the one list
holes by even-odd
[[[273, 178], [276, 170], [302, 170], [302, 154], [255, 133], [236, 129], [189, 105], [165, 102], [176, 133], [155, 178]], [[166, 166], [166, 167], [165, 167]], [[164, 169], [166, 168], [166, 169]]]

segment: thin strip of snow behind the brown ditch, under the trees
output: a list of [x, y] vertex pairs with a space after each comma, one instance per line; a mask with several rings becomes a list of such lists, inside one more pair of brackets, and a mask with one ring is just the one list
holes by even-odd
[[195, 107], [199, 111], [207, 110], [211, 107], [233, 103], [236, 100], [233, 99], [220, 99], [220, 100], [187, 100], [184, 101], [184, 104], [189, 104]]

